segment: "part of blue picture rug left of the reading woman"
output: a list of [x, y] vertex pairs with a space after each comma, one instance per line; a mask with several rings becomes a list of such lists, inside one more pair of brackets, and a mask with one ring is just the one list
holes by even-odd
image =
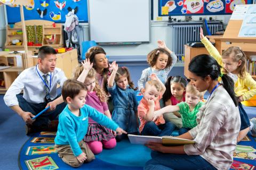
[[[54, 149], [55, 135], [35, 133], [22, 146], [19, 153], [20, 169], [71, 169], [62, 162]], [[117, 143], [114, 149], [103, 149], [91, 163], [79, 169], [143, 169], [150, 159], [150, 149], [132, 145], [128, 139]]]

